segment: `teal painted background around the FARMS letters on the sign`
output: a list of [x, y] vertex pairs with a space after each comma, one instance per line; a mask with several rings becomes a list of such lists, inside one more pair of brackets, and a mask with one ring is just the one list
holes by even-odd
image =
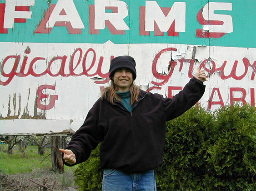
[[[233, 31], [219, 38], [212, 36], [199, 38], [196, 36], [196, 30], [203, 29], [197, 19], [197, 15], [208, 3], [208, 0], [156, 0], [160, 7], [172, 7], [174, 3], [179, 2], [186, 3], [186, 30], [185, 32], [179, 32], [178, 36], [168, 36], [167, 32], [164, 32], [163, 36], [156, 36], [156, 31], [149, 32], [150, 35], [141, 35], [140, 25], [143, 22], [140, 22], [140, 15], [142, 14], [140, 8], [146, 6], [146, 0], [123, 1], [128, 6], [128, 16], [124, 18], [124, 21], [130, 28], [130, 30], [125, 30], [125, 34], [112, 34], [107, 27], [100, 29], [99, 34], [90, 34], [89, 7], [95, 4], [94, 0], [73, 0], [85, 28], [80, 30], [80, 34], [70, 34], [65, 26], [54, 26], [50, 33], [35, 33], [47, 10], [51, 5], [59, 3], [58, 0], [35, 0], [35, 5], [30, 6], [31, 19], [26, 19], [25, 23], [15, 22], [14, 27], [10, 29], [3, 28], [3, 22], [5, 21], [3, 6], [6, 2], [5, 0], [0, 0], [2, 7], [0, 9], [0, 42], [105, 43], [110, 40], [115, 44], [173, 43], [256, 48], [255, 0], [210, 0], [210, 3], [231, 3], [232, 10], [214, 11], [215, 15], [230, 15], [232, 18], [231, 26]], [[106, 10], [105, 12], [109, 13], [111, 10]], [[224, 23], [227, 24], [226, 22]], [[6, 30], [8, 33], [6, 33]]]

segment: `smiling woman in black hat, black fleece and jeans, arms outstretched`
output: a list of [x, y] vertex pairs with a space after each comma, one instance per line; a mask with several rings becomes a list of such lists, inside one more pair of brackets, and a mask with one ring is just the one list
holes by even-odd
[[206, 74], [195, 77], [171, 98], [135, 85], [136, 62], [130, 56], [110, 63], [111, 86], [88, 112], [64, 153], [68, 166], [84, 162], [98, 143], [104, 191], [156, 190], [154, 169], [163, 162], [166, 121], [190, 109], [205, 91]]

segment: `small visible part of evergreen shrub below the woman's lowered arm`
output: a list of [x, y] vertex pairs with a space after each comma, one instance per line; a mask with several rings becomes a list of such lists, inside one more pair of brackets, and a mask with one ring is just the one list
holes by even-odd
[[101, 190], [103, 171], [100, 169], [100, 144], [90, 158], [75, 169], [75, 184], [81, 191]]

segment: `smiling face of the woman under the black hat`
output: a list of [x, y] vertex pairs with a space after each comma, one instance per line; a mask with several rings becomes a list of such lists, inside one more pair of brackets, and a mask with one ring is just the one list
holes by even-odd
[[121, 68], [115, 71], [114, 83], [117, 87], [116, 91], [128, 91], [132, 83], [132, 73], [129, 69]]

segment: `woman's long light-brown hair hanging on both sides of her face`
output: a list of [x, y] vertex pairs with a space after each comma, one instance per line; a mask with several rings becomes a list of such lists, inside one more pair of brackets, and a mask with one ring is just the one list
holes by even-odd
[[[129, 89], [131, 92], [131, 105], [133, 105], [134, 102], [138, 101], [138, 97], [140, 94], [140, 88], [135, 85], [134, 81], [132, 81]], [[101, 92], [101, 99], [108, 100], [111, 104], [114, 104], [115, 100], [121, 102], [119, 96], [116, 93], [116, 85], [113, 80], [111, 80], [111, 85], [109, 87], [106, 87]]]

